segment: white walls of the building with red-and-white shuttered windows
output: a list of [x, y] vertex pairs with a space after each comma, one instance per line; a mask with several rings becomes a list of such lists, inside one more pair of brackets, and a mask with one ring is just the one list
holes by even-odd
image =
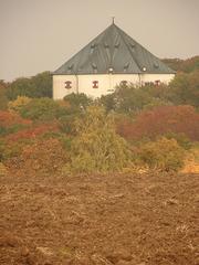
[[168, 84], [175, 74], [90, 74], [53, 75], [53, 98], [62, 99], [71, 93], [84, 93], [93, 98], [115, 91], [122, 82], [137, 87], [146, 83]]

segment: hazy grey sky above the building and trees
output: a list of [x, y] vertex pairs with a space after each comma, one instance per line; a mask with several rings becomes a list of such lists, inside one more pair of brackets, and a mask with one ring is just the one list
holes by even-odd
[[199, 0], [0, 0], [0, 80], [56, 70], [113, 15], [158, 57], [199, 54]]

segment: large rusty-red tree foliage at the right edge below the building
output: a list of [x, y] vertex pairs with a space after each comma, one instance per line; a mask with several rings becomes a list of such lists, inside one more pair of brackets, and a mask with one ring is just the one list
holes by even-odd
[[117, 131], [134, 140], [142, 137], [151, 139], [167, 132], [184, 132], [191, 140], [199, 140], [199, 114], [192, 106], [159, 106], [142, 112], [136, 120], [122, 120]]

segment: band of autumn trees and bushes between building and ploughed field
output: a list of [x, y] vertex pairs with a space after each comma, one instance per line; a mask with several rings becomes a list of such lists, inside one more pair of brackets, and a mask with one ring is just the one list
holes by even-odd
[[191, 71], [180, 70], [168, 86], [123, 85], [95, 100], [84, 94], [53, 100], [50, 72], [1, 81], [0, 168], [65, 174], [181, 169], [199, 141], [199, 70], [190, 61]]

